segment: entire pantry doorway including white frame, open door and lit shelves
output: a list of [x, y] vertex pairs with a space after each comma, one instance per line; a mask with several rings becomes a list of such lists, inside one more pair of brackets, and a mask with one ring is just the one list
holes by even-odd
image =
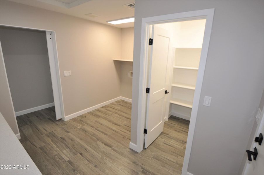
[[[161, 133], [161, 137], [171, 137], [174, 143], [164, 144], [183, 152], [182, 174], [187, 173], [189, 164], [213, 13], [214, 9], [207, 9], [142, 19], [142, 46], [145, 46], [141, 52], [143, 78], [139, 82], [139, 91], [142, 88], [139, 114], [142, 115], [138, 116], [134, 150], [140, 152], [148, 149], [153, 141], [160, 142]], [[171, 115], [174, 117], [165, 122], [168, 127], [165, 128], [164, 121]], [[174, 128], [169, 131], [171, 124]], [[185, 144], [179, 145], [177, 141]]]

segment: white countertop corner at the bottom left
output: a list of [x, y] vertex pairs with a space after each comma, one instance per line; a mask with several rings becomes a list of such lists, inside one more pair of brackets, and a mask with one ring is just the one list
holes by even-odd
[[[3, 165], [3, 166], [2, 166]], [[3, 169], [6, 168], [11, 169]], [[11, 166], [10, 166], [11, 165]], [[20, 167], [18, 169], [14, 168]], [[24, 166], [23, 166], [24, 165]], [[28, 169], [27, 169], [28, 165]], [[0, 113], [0, 174], [41, 174]]]

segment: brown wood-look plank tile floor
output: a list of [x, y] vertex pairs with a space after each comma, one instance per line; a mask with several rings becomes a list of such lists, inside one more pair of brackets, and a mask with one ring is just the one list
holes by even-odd
[[130, 150], [131, 103], [119, 100], [68, 121], [54, 107], [17, 117], [20, 142], [42, 174], [180, 174], [189, 121], [171, 116], [141, 153]]

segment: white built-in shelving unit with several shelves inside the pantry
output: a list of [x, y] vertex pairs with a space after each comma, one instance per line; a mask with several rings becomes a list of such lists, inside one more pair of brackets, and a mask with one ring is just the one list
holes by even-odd
[[170, 96], [172, 115], [191, 117], [200, 55], [201, 48], [175, 48]]

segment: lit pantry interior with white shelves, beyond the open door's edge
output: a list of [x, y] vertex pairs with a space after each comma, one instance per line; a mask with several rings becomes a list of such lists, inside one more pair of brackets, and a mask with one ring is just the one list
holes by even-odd
[[169, 117], [190, 120], [203, 43], [205, 19], [157, 24], [172, 34]]

